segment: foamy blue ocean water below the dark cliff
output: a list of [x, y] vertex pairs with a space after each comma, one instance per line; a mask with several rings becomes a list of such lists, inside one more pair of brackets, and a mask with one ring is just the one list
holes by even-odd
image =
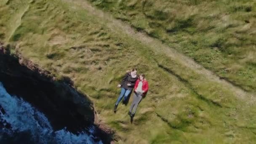
[[11, 96], [0, 83], [0, 143], [18, 144], [102, 144], [93, 136], [93, 125], [88, 132], [74, 134], [63, 128], [54, 131], [42, 112], [27, 101]]

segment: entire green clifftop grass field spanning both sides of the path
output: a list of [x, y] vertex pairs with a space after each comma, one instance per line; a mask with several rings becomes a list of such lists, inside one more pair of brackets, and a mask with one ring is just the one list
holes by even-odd
[[[83, 0], [2, 0], [0, 41], [57, 79], [70, 77], [75, 88], [93, 101], [99, 120], [115, 130], [117, 143], [255, 143], [255, 3], [233, 0], [229, 5], [228, 1], [97, 0], [93, 4], [116, 18], [117, 13], [126, 16], [122, 20], [137, 30], [149, 32], [147, 24], [153, 24], [150, 36], [232, 83], [188, 67], [184, 59], [169, 56], [157, 44], [152, 48], [142, 43], [98, 10], [89, 11]], [[149, 11], [145, 17], [142, 4]], [[165, 14], [168, 4], [176, 6]], [[168, 31], [163, 30], [175, 10]], [[149, 93], [131, 124], [132, 97], [127, 106], [118, 106], [116, 114], [113, 108], [120, 92], [116, 86], [133, 67], [145, 73]]]

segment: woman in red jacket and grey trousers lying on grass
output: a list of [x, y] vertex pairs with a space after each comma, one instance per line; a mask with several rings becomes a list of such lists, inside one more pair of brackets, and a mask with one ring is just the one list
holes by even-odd
[[144, 97], [147, 94], [147, 91], [149, 89], [149, 84], [147, 80], [145, 79], [145, 75], [139, 75], [139, 79], [136, 81], [134, 85], [134, 95], [133, 95], [133, 102], [131, 104], [130, 110], [128, 115], [131, 116], [131, 121], [135, 115], [136, 109], [141, 102], [142, 97]]

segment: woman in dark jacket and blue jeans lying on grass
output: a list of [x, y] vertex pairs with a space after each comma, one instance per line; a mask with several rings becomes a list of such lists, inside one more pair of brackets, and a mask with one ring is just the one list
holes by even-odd
[[137, 69], [132, 69], [131, 72], [128, 72], [125, 74], [121, 84], [117, 85], [117, 88], [121, 88], [121, 93], [117, 98], [117, 102], [115, 103], [114, 112], [117, 111], [117, 106], [120, 103], [120, 101], [123, 99], [123, 96], [125, 96], [123, 101], [127, 100], [129, 94], [133, 90], [136, 80], [137, 80]]

